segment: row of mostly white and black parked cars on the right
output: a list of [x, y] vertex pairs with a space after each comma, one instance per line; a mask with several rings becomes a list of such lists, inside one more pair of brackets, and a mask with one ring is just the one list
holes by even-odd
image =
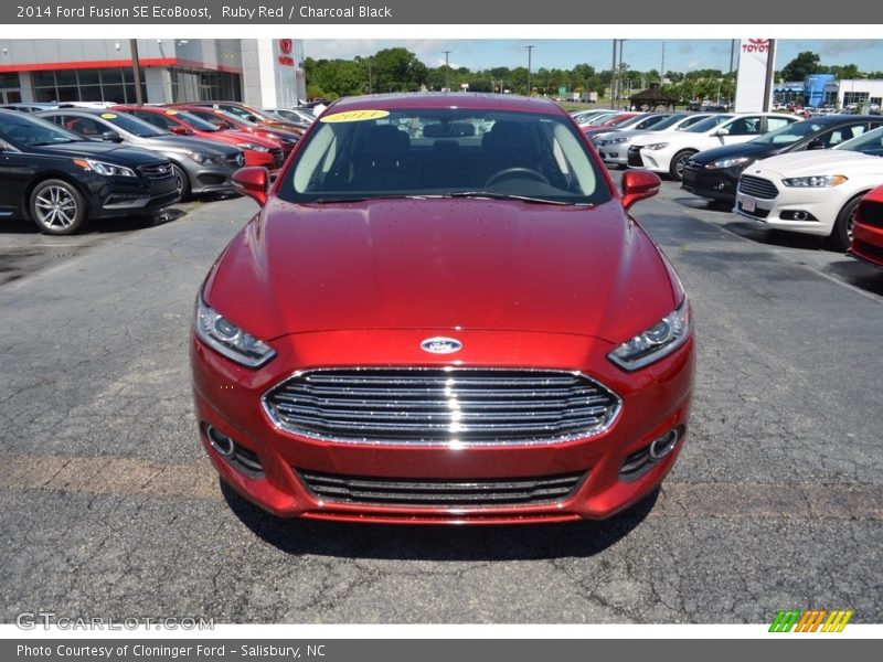
[[[883, 156], [883, 117], [837, 114], [801, 121], [785, 114], [731, 113], [685, 126], [694, 117], [672, 114], [643, 130], [625, 125], [596, 132], [592, 141], [608, 167], [625, 162], [668, 174], [684, 191], [732, 204], [740, 216], [850, 248], [863, 196], [883, 184], [883, 160], [876, 158]], [[877, 234], [863, 233], [865, 245], [853, 253], [871, 261], [866, 246]]]

